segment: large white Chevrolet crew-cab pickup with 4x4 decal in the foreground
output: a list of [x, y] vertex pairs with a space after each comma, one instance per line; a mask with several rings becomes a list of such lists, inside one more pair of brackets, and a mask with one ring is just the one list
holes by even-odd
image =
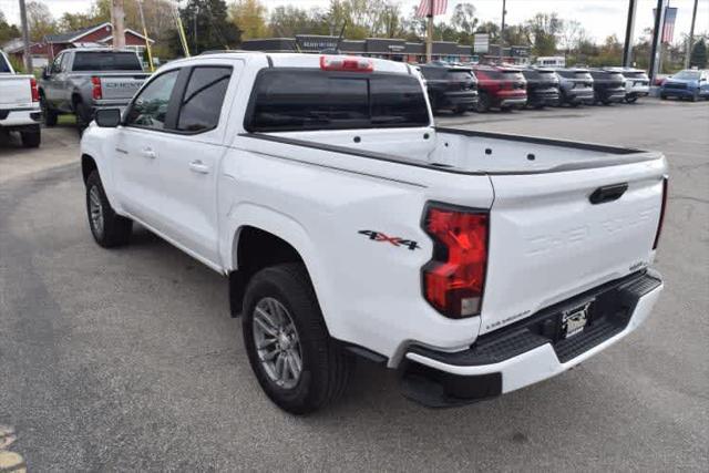
[[436, 127], [402, 63], [171, 62], [96, 114], [81, 161], [96, 243], [140, 223], [227, 276], [292, 413], [337, 398], [356, 356], [427, 405], [526, 387], [635, 330], [662, 288], [661, 154]]

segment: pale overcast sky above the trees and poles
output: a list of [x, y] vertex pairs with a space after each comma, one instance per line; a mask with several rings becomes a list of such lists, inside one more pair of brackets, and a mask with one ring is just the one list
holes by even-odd
[[[29, 1], [29, 0], [28, 0]], [[91, 0], [41, 0], [49, 8], [54, 17], [59, 18], [64, 12], [80, 12], [89, 10]], [[232, 0], [227, 0], [229, 3]], [[402, 11], [409, 12], [417, 7], [420, 0], [393, 0], [401, 4]], [[301, 8], [327, 8], [329, 0], [261, 0], [269, 9], [292, 4]], [[445, 21], [453, 8], [463, 1], [449, 0], [445, 17], [438, 17], [436, 21]], [[466, 0], [472, 3], [477, 17], [482, 21], [494, 21], [499, 23], [502, 18], [502, 0]], [[639, 37], [645, 28], [653, 27], [653, 9], [657, 6], [656, 0], [637, 0], [637, 16], [635, 37]], [[19, 0], [0, 0], [2, 10], [12, 22], [19, 22]], [[185, 0], [182, 0], [185, 3]], [[693, 0], [670, 0], [671, 7], [677, 7], [677, 23], [675, 25], [675, 41], [679, 40], [681, 33], [689, 33], [691, 23], [691, 10]], [[507, 24], [515, 24], [525, 21], [537, 12], [556, 12], [562, 19], [575, 19], [580, 21], [589, 35], [596, 41], [603, 41], [610, 34], [616, 34], [620, 40], [625, 38], [626, 13], [628, 0], [507, 0]], [[709, 31], [709, 0], [699, 0], [697, 10], [697, 24], [695, 32]]]

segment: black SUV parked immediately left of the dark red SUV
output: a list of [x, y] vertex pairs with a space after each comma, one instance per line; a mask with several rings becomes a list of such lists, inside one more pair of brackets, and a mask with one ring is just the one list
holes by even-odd
[[419, 66], [425, 79], [431, 109], [465, 113], [477, 103], [477, 80], [469, 68], [445, 63]]

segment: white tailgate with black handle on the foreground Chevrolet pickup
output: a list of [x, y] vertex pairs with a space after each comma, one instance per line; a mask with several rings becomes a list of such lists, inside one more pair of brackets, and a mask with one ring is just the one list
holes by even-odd
[[[665, 173], [658, 158], [491, 175], [495, 197], [481, 333], [648, 266]], [[597, 189], [604, 191], [592, 198]]]

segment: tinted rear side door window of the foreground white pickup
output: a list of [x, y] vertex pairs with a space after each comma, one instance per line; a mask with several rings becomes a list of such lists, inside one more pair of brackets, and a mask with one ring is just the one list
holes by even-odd
[[230, 78], [232, 68], [193, 69], [181, 101], [177, 130], [199, 133], [216, 128]]

